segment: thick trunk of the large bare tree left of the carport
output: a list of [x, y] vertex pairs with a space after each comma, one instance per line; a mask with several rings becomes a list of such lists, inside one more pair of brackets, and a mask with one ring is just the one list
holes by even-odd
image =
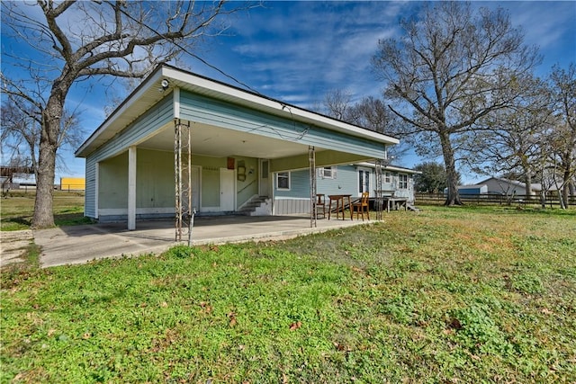
[[36, 200], [31, 228], [54, 227], [53, 195], [56, 170], [56, 151], [60, 119], [64, 111], [64, 97], [50, 95], [46, 109], [42, 112], [42, 127], [38, 168], [36, 169]]

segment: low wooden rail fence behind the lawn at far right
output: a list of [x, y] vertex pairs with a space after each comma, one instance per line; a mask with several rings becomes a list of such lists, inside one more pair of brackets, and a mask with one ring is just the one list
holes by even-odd
[[[416, 193], [416, 204], [420, 205], [442, 205], [446, 201], [444, 193]], [[464, 204], [473, 205], [518, 205], [518, 206], [532, 206], [542, 205], [542, 200], [539, 195], [526, 196], [526, 195], [500, 195], [500, 194], [461, 194], [460, 200]], [[576, 196], [570, 197], [568, 205], [576, 205]], [[548, 195], [545, 197], [546, 207], [560, 207], [560, 199], [557, 195]]]

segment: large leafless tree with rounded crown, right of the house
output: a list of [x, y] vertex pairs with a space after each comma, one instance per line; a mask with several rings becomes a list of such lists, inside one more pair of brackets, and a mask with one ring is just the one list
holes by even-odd
[[446, 205], [462, 204], [456, 151], [476, 121], [509, 105], [516, 79], [538, 62], [501, 8], [473, 12], [460, 2], [425, 5], [418, 19], [401, 21], [403, 36], [379, 41], [374, 70], [403, 133], [419, 135], [420, 150], [440, 147], [447, 175]]

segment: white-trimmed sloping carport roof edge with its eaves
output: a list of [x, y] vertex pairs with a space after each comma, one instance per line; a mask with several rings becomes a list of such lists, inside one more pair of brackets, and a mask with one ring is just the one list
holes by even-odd
[[[167, 81], [167, 87], [162, 86]], [[220, 100], [225, 103], [247, 107], [259, 112], [289, 118], [304, 124], [367, 138], [383, 144], [398, 144], [393, 138], [371, 129], [365, 129], [345, 121], [338, 121], [320, 113], [311, 112], [292, 104], [284, 103], [263, 94], [250, 92], [205, 76], [193, 74], [169, 65], [158, 66], [118, 108], [94, 130], [92, 135], [76, 150], [77, 157], [90, 155], [96, 148], [128, 127], [144, 112], [166, 97], [173, 89], [180, 88], [194, 94]], [[177, 118], [177, 112], [175, 118]]]

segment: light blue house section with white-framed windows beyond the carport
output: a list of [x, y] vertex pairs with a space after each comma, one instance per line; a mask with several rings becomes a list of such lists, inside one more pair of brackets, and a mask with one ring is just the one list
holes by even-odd
[[[383, 165], [383, 194], [386, 197], [405, 198], [410, 203], [414, 202], [414, 174], [419, 174], [419, 171], [397, 165]], [[310, 180], [307, 169], [275, 174], [274, 213], [309, 213]], [[362, 192], [369, 192], [374, 199], [377, 189], [375, 165], [363, 162], [319, 167], [316, 183], [316, 191], [325, 196], [349, 194], [352, 200], [357, 200]]]

